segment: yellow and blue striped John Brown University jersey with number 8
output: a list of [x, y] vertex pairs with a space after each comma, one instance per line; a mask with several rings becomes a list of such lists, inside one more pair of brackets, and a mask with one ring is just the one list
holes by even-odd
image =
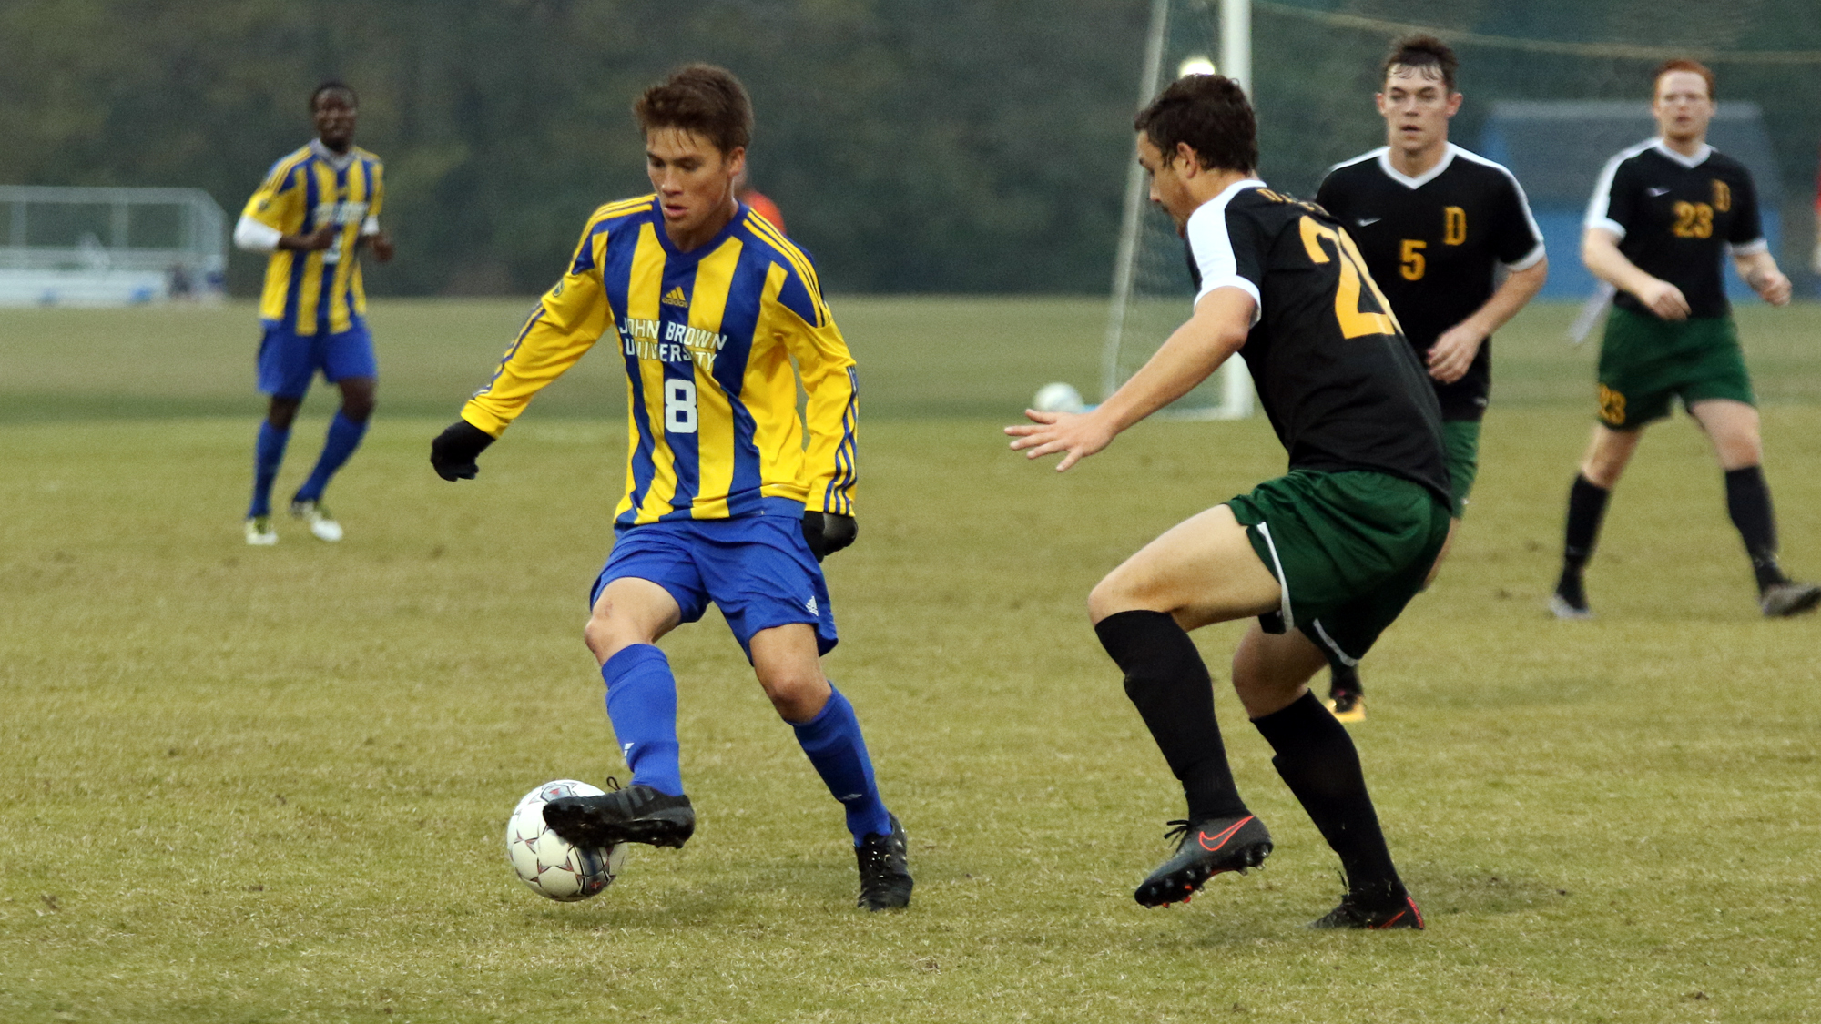
[[[595, 210], [463, 419], [497, 437], [605, 335], [626, 366], [615, 525], [754, 516], [783, 510], [779, 499], [854, 514], [854, 359], [814, 264], [768, 220], [741, 206], [685, 253], [650, 195]], [[801, 419], [792, 359], [809, 392]]]

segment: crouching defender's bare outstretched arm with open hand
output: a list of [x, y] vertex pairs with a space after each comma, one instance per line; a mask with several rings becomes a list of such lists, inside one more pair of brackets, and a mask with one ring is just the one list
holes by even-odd
[[1240, 346], [1258, 304], [1238, 288], [1216, 288], [1195, 304], [1195, 315], [1133, 374], [1131, 381], [1093, 412], [1025, 410], [1027, 425], [1007, 426], [1012, 450], [1027, 459], [1065, 452], [1063, 472], [1113, 443], [1127, 426], [1189, 394]]

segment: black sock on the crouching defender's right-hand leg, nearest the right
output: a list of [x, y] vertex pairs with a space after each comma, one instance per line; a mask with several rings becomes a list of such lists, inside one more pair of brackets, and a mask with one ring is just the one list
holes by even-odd
[[1277, 756], [1271, 765], [1297, 794], [1328, 845], [1340, 855], [1348, 873], [1348, 891], [1369, 907], [1404, 898], [1404, 882], [1391, 864], [1391, 851], [1378, 829], [1378, 813], [1366, 793], [1360, 756], [1346, 725], [1315, 700], [1302, 694], [1282, 711], [1253, 718]]

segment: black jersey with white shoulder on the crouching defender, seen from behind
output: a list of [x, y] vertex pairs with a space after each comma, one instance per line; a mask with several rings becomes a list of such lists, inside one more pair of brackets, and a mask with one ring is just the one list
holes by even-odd
[[1249, 179], [1185, 237], [1196, 299], [1240, 288], [1258, 302], [1240, 355], [1289, 466], [1389, 474], [1450, 501], [1435, 392], [1346, 230]]

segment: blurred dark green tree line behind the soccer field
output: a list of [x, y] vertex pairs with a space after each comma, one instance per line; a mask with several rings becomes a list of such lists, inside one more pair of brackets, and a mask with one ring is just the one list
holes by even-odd
[[[1821, 49], [1814, 0], [1260, 0], [1262, 173], [1313, 193], [1382, 144], [1369, 100], [1386, 31], [1338, 13], [1486, 36]], [[1311, 16], [1315, 15], [1315, 16]], [[1211, 15], [1209, 15], [1211, 16]], [[0, 182], [200, 186], [239, 213], [311, 137], [322, 78], [361, 95], [402, 259], [375, 293], [544, 288], [586, 213], [648, 186], [628, 113], [685, 60], [752, 91], [754, 184], [838, 292], [1104, 292], [1111, 279], [1147, 0], [7, 0]], [[1643, 58], [1460, 42], [1482, 98], [1643, 98]], [[1766, 108], [1814, 237], [1816, 64], [1721, 66]], [[1794, 246], [1792, 246], [1794, 248]], [[1788, 253], [1785, 253], [1788, 259]], [[229, 282], [257, 288], [237, 253]]]

